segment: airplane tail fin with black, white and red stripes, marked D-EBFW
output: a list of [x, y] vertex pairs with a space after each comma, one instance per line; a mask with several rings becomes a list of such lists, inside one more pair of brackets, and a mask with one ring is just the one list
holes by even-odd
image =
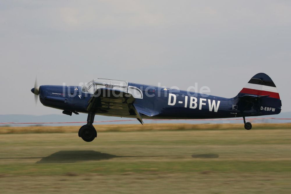
[[[237, 95], [244, 113], [274, 115], [281, 112], [281, 99], [275, 83], [265, 73], [254, 75]], [[246, 114], [248, 115], [248, 114]]]

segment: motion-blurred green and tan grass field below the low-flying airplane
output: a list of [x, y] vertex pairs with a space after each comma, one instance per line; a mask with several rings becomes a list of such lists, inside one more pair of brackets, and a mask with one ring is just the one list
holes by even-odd
[[290, 124], [157, 126], [107, 125], [91, 143], [78, 127], [0, 127], [0, 192], [291, 193]]

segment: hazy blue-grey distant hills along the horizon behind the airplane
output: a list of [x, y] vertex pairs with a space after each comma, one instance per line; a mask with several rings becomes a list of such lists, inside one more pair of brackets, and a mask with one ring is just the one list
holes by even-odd
[[[284, 112], [280, 113], [279, 115], [269, 115], [269, 116], [261, 116], [261, 117], [250, 117], [250, 118], [291, 118], [291, 112]], [[110, 121], [110, 120], [129, 120], [131, 118], [120, 118], [120, 117], [107, 117], [96, 115], [95, 121]], [[79, 114], [79, 115], [58, 115], [58, 114], [50, 114], [50, 115], [0, 115], [0, 122], [83, 122], [87, 120], [86, 114]], [[242, 120], [145, 120], [145, 123], [242, 123]], [[263, 123], [286, 123], [291, 122], [291, 120], [254, 120], [252, 122], [263, 122]], [[139, 122], [136, 121], [123, 121], [123, 122], [102, 122], [102, 124], [138, 124]], [[18, 126], [20, 124], [9, 124], [11, 126]], [[33, 124], [22, 124], [21, 126], [27, 126]], [[52, 125], [52, 126], [62, 126], [62, 125], [83, 125], [82, 123], [76, 124], [44, 124], [44, 125]], [[1, 127], [1, 125], [0, 125]]]

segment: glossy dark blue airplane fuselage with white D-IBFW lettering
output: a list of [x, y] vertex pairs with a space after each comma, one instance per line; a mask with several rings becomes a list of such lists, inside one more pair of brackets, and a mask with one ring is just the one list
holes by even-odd
[[[223, 98], [185, 90], [171, 90], [158, 86], [137, 84], [128, 82], [128, 87], [138, 88], [142, 92], [142, 98], [134, 101], [134, 106], [145, 112], [143, 118], [153, 119], [205, 119], [205, 118], [233, 118], [242, 116], [262, 115], [261, 104], [244, 104], [238, 97]], [[87, 106], [93, 93], [86, 92], [81, 86], [40, 86], [40, 102], [52, 108], [61, 110], [88, 113]], [[244, 110], [238, 107], [245, 107]], [[113, 106], [114, 108], [114, 106]], [[118, 108], [118, 107], [116, 107]], [[269, 109], [269, 108], [268, 108]], [[148, 111], [147, 111], [148, 110]], [[269, 113], [278, 114], [281, 108], [270, 108]], [[98, 113], [98, 115], [116, 117], [134, 117], [130, 115]], [[266, 111], [264, 111], [266, 115]]]

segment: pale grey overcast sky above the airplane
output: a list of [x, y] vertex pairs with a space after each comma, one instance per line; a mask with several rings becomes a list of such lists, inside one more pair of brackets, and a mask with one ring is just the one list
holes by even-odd
[[291, 111], [291, 1], [0, 1], [0, 114], [61, 114], [31, 93], [94, 78], [234, 97], [259, 73]]

